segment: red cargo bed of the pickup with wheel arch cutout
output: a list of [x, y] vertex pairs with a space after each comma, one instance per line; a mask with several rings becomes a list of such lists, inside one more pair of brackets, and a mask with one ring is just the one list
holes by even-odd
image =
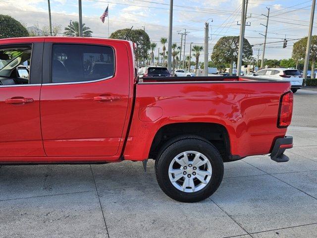
[[277, 119], [281, 95], [290, 87], [287, 81], [244, 76], [139, 79], [125, 157], [148, 158], [143, 153], [150, 150], [159, 128], [183, 122], [223, 126], [232, 160], [268, 154], [286, 134]]

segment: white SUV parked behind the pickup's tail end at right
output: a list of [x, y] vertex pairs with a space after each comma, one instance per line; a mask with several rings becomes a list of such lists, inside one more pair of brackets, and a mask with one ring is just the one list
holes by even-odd
[[253, 76], [289, 81], [292, 84], [291, 90], [293, 93], [296, 93], [298, 89], [301, 89], [303, 84], [303, 75], [297, 69], [265, 68], [254, 73]]

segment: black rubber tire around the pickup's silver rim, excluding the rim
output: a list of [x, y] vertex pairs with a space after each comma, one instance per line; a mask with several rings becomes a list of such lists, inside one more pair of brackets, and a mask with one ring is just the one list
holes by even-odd
[[[178, 190], [168, 177], [168, 167], [175, 156], [184, 151], [197, 151], [204, 154], [211, 163], [212, 175], [207, 185], [196, 192]], [[160, 188], [172, 199], [180, 202], [199, 202], [219, 187], [223, 177], [223, 161], [218, 150], [207, 140], [195, 135], [180, 136], [167, 142], [156, 160], [156, 176]]]

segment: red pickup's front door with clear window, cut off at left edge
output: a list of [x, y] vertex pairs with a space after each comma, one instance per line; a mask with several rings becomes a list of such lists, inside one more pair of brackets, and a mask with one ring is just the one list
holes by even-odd
[[45, 156], [40, 122], [43, 42], [2, 44], [0, 162]]

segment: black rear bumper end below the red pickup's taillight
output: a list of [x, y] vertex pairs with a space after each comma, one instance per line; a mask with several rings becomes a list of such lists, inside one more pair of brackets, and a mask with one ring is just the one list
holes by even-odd
[[287, 162], [289, 158], [284, 155], [284, 151], [286, 149], [290, 149], [293, 147], [293, 136], [285, 136], [284, 138], [278, 138], [275, 141], [272, 152], [269, 155], [271, 160], [275, 162]]

